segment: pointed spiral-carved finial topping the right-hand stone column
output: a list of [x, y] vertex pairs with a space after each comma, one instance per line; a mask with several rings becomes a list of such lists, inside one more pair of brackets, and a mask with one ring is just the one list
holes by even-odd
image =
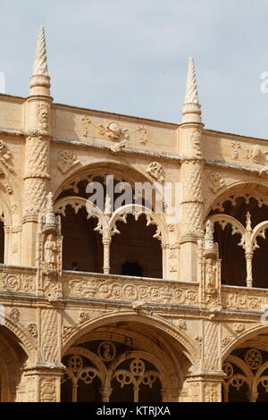
[[198, 101], [197, 79], [194, 59], [188, 59], [188, 76], [182, 122], [201, 122], [201, 106]]

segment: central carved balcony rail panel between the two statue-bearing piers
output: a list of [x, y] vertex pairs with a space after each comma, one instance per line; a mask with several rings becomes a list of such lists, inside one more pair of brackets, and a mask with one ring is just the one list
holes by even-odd
[[63, 297], [197, 307], [198, 283], [63, 272]]

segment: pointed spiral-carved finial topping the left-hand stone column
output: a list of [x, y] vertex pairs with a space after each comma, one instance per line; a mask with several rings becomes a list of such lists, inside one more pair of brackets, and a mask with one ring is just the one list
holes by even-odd
[[38, 44], [29, 88], [30, 94], [50, 96], [50, 77], [47, 68], [46, 37], [43, 26], [40, 27], [38, 33]]

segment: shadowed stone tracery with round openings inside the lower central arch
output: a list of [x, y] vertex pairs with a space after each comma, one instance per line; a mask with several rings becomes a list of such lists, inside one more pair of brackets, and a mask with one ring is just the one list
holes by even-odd
[[[94, 342], [92, 344], [94, 345]], [[100, 353], [102, 348], [109, 352], [109, 357], [103, 357], [104, 354], [102, 356]], [[110, 353], [110, 350], [112, 350], [112, 353]], [[67, 367], [62, 383], [66, 385], [66, 382], [71, 381], [72, 391], [71, 394], [69, 392], [69, 396], [71, 395], [73, 402], [83, 399], [83, 396], [80, 395], [80, 392], [83, 392], [80, 390], [80, 382], [84, 382], [86, 385], [95, 382], [95, 394], [101, 396], [103, 401], [124, 400], [124, 398], [128, 398], [127, 395], [130, 392], [132, 394], [130, 400], [138, 402], [141, 394], [145, 392], [146, 395], [147, 393], [144, 387], [152, 390], [153, 387], [155, 388], [157, 378], [160, 382], [163, 381], [163, 373], [161, 374], [156, 368], [152, 369], [153, 365], [149, 362], [151, 357], [146, 352], [126, 351], [124, 353], [119, 350], [119, 353], [116, 354], [115, 342], [101, 341], [97, 345], [96, 353], [76, 347], [69, 349], [68, 354], [70, 356], [63, 359]], [[98, 378], [98, 382], [95, 381], [96, 378]], [[158, 387], [160, 382], [157, 385]], [[163, 384], [164, 382], [162, 386]], [[132, 391], [128, 389], [126, 396], [123, 397], [124, 388], [128, 388], [128, 385], [131, 385]], [[98, 391], [96, 391], [96, 387], [98, 387]], [[65, 398], [67, 398], [68, 392], [66, 388], [64, 389]], [[158, 392], [160, 390], [161, 388], [158, 389]], [[96, 396], [95, 398], [99, 397]], [[146, 397], [144, 396], [141, 400], [144, 401], [144, 398]]]

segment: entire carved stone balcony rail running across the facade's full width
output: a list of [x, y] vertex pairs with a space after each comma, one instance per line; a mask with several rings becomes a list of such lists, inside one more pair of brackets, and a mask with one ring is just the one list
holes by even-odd
[[[19, 265], [0, 265], [0, 295], [18, 298], [81, 299], [121, 302], [133, 305], [204, 307], [200, 301], [200, 284], [191, 281], [130, 277], [103, 273], [63, 271], [61, 277], [43, 276], [38, 290], [38, 269]], [[59, 287], [60, 286], [60, 287]], [[58, 290], [61, 290], [60, 295]], [[263, 313], [268, 306], [268, 289], [222, 285], [222, 309]], [[212, 308], [210, 299], [205, 307]]]

